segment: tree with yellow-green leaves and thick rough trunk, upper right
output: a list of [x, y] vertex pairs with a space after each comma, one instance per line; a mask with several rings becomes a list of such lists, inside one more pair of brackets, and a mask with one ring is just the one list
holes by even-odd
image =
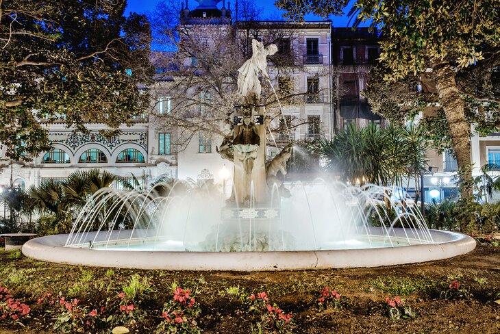
[[[276, 4], [287, 11], [286, 16], [303, 19], [309, 12], [324, 17], [338, 14], [347, 1], [279, 0]], [[471, 164], [468, 140], [471, 125], [467, 112], [485, 114], [482, 105], [488, 103], [493, 106], [490, 110], [499, 112], [498, 1], [357, 0], [349, 15], [354, 19], [354, 26], [368, 21], [372, 28], [381, 31], [379, 61], [387, 70], [385, 81], [401, 86], [401, 80], [425, 75], [421, 80], [433, 86], [445, 112], [447, 132], [459, 168]], [[461, 79], [467, 77], [471, 80], [462, 84]], [[468, 107], [464, 96], [482, 103], [476, 108]], [[408, 104], [408, 116], [412, 116], [418, 103]], [[389, 112], [394, 114], [392, 108]], [[465, 179], [472, 177], [470, 173], [464, 176]], [[471, 198], [473, 188], [467, 184], [462, 187], [462, 197]]]

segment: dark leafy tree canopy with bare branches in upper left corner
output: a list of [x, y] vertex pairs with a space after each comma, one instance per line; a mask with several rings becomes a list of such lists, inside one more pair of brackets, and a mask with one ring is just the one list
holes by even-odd
[[0, 142], [14, 160], [48, 149], [63, 119], [118, 127], [148, 103], [149, 23], [126, 1], [0, 0]]

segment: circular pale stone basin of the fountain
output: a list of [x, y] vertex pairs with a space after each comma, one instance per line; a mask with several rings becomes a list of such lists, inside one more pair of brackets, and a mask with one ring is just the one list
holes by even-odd
[[[125, 240], [128, 245], [131, 233], [132, 231], [112, 231], [108, 235], [101, 233], [97, 235], [92, 249], [88, 248], [88, 244], [82, 244], [79, 247], [64, 246], [68, 235], [38, 237], [24, 244], [23, 254], [41, 261], [78, 266], [162, 270], [275, 271], [412, 264], [455, 257], [472, 251], [476, 246], [475, 240], [468, 235], [436, 230], [429, 230], [434, 243], [421, 244], [418, 240], [410, 239], [410, 244], [408, 244], [403, 229], [391, 230], [391, 246], [384, 241], [382, 229], [371, 229], [370, 237], [375, 242], [368, 246], [366, 242], [356, 239], [349, 246], [345, 246], [345, 243], [342, 243], [344, 246], [332, 244], [332, 249], [316, 251], [229, 253], [162, 251], [158, 244], [154, 248], [155, 251], [151, 251], [149, 246], [134, 244], [134, 240], [129, 246], [123, 246]], [[94, 240], [96, 237], [95, 232], [90, 232], [87, 236], [87, 240]], [[111, 242], [105, 248], [102, 244], [108, 239]], [[381, 246], [379, 242], [385, 246]], [[341, 246], [342, 249], [340, 249]]]

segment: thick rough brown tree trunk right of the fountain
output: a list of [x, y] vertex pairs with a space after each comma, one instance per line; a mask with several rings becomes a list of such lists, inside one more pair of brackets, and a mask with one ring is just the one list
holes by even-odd
[[436, 75], [436, 88], [438, 89], [439, 102], [445, 110], [448, 121], [449, 132], [453, 150], [457, 157], [458, 168], [466, 170], [464, 173], [464, 186], [460, 188], [462, 198], [473, 196], [472, 183], [468, 182], [472, 178], [471, 168], [471, 125], [467, 123], [464, 112], [464, 100], [460, 97], [460, 92], [455, 81], [455, 72], [447, 62], [439, 62], [434, 65]]

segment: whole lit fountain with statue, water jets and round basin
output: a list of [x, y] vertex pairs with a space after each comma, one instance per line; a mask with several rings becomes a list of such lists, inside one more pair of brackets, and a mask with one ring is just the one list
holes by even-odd
[[[391, 201], [395, 190], [316, 179], [287, 188], [292, 144], [266, 163], [266, 110], [259, 75], [267, 55], [256, 40], [240, 68], [233, 131], [218, 153], [234, 164], [234, 187], [182, 181], [149, 192], [105, 188], [79, 213], [67, 235], [30, 240], [28, 257], [62, 264], [168, 270], [303, 270], [388, 266], [468, 253], [475, 241], [427, 229], [418, 207]], [[269, 131], [271, 132], [271, 131]], [[179, 192], [184, 189], [184, 192]]]

